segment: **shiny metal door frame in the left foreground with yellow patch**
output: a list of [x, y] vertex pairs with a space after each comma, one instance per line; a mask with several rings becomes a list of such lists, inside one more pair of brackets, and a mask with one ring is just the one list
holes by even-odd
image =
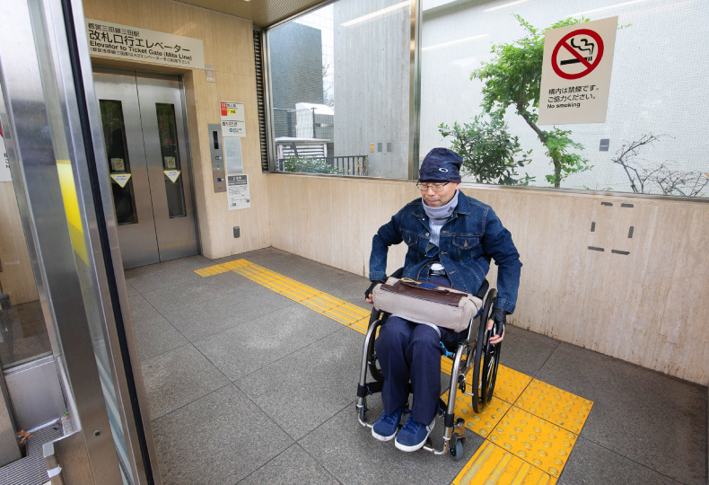
[[0, 122], [70, 411], [45, 458], [53, 482], [159, 485], [84, 25], [80, 0], [0, 15]]

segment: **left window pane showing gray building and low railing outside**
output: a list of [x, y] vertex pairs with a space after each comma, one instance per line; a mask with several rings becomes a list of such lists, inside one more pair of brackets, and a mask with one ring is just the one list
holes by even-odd
[[408, 178], [410, 31], [400, 0], [339, 0], [267, 31], [276, 170]]

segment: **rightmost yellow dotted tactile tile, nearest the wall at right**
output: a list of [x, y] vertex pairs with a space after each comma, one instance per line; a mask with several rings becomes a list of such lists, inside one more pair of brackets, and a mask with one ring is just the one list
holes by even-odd
[[589, 417], [593, 402], [532, 379], [515, 405], [578, 435]]

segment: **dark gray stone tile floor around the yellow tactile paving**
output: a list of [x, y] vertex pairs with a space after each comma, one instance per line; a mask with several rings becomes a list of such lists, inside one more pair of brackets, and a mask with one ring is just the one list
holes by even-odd
[[[366, 306], [365, 278], [272, 248], [127, 271], [163, 483], [450, 483], [483, 438], [467, 433], [460, 462], [374, 440], [355, 415], [363, 336], [235, 273], [193, 272], [240, 258]], [[705, 483], [705, 387], [512, 326], [502, 363], [594, 401], [559, 483]]]

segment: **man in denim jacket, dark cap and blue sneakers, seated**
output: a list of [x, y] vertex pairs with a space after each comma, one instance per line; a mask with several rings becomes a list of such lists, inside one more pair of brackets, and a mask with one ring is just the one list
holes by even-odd
[[[520, 254], [493, 209], [461, 193], [459, 154], [433, 148], [426, 154], [416, 184], [421, 198], [409, 202], [382, 225], [372, 239], [370, 280], [365, 298], [386, 279], [389, 246], [408, 246], [403, 278], [454, 287], [475, 295], [485, 281], [490, 260], [498, 266], [497, 298], [487, 329], [502, 329], [490, 338], [504, 338], [506, 315], [514, 311], [520, 285]], [[396, 437], [399, 450], [411, 452], [425, 445], [439, 409], [442, 344], [455, 344], [459, 334], [432, 324], [407, 321], [390, 315], [374, 342], [384, 375], [381, 399], [384, 411], [372, 426], [372, 436], [389, 441]], [[404, 426], [409, 382], [413, 405]]]

